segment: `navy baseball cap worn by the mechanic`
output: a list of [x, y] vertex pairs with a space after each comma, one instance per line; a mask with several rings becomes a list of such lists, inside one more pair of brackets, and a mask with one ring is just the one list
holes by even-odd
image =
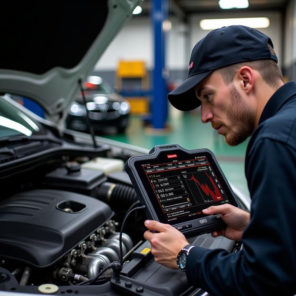
[[194, 46], [188, 77], [168, 94], [169, 102], [181, 111], [193, 110], [201, 105], [194, 86], [213, 70], [258, 59], [272, 59], [277, 63], [277, 57], [271, 54], [268, 44], [273, 48], [268, 36], [246, 26], [228, 26], [211, 31]]

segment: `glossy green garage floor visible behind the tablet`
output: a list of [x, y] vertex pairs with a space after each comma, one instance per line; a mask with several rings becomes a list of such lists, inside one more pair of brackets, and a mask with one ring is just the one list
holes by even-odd
[[150, 134], [145, 130], [141, 118], [130, 117], [124, 134], [104, 135], [108, 139], [151, 149], [155, 145], [179, 144], [186, 149], [207, 148], [216, 156], [226, 178], [249, 195], [244, 176], [244, 155], [247, 141], [237, 147], [229, 147], [210, 123], [203, 124], [198, 113], [184, 113], [168, 120], [171, 131], [162, 135]]

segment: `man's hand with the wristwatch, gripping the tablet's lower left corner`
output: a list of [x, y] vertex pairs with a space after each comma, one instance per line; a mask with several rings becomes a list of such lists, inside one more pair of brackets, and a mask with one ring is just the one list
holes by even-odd
[[151, 253], [154, 255], [155, 262], [177, 269], [178, 253], [189, 244], [184, 235], [173, 226], [157, 221], [146, 220], [145, 226], [159, 232], [153, 233], [147, 230], [144, 233], [144, 238], [151, 243]]

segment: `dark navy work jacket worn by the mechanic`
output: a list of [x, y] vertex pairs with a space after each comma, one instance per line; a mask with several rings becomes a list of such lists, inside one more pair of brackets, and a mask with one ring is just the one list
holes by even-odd
[[243, 249], [194, 247], [190, 284], [212, 295], [296, 294], [296, 83], [267, 102], [247, 147], [245, 174], [252, 198]]

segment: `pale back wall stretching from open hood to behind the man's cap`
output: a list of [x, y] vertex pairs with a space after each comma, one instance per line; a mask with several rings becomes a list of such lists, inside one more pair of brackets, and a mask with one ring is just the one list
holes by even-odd
[[[279, 12], [239, 12], [235, 15], [223, 14], [224, 17], [269, 17], [270, 27], [259, 29], [268, 35], [274, 44], [274, 49], [279, 58], [281, 67], [282, 53], [282, 28], [281, 15]], [[200, 20], [203, 18], [222, 18], [221, 14], [195, 14], [189, 19], [189, 25], [185, 26], [177, 18], [172, 17], [172, 30], [166, 38], [166, 67], [169, 70], [184, 70], [188, 68], [189, 57], [193, 46], [203, 38], [209, 31], [200, 28]], [[296, 30], [294, 30], [296, 34]], [[294, 39], [296, 42], [296, 38]], [[131, 19], [118, 33], [101, 59], [95, 66], [97, 71], [116, 70], [120, 59], [144, 60], [148, 69], [153, 69], [153, 31], [149, 17]], [[188, 46], [186, 46], [186, 42]], [[296, 57], [296, 46], [295, 57]]]

